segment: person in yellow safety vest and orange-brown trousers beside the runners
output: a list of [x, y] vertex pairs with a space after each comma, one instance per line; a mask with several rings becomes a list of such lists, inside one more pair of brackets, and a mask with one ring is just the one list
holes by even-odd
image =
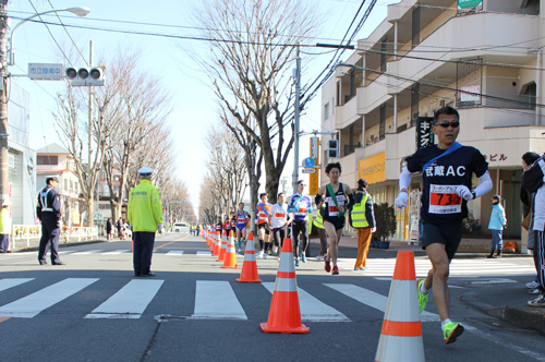
[[367, 252], [370, 251], [371, 237], [375, 231], [373, 198], [367, 193], [367, 180], [358, 180], [354, 205], [350, 210], [350, 224], [358, 232], [358, 257], [355, 258], [354, 270], [367, 269]]

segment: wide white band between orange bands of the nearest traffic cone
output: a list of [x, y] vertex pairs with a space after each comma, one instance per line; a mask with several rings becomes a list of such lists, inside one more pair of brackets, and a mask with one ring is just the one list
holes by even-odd
[[391, 322], [419, 322], [420, 310], [415, 309], [407, 301], [419, 300], [416, 280], [399, 280], [391, 283], [390, 298], [386, 305], [385, 319]]

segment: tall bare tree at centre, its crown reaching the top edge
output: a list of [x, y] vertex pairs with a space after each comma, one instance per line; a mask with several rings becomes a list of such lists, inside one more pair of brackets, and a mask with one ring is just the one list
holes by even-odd
[[[317, 25], [315, 8], [302, 0], [204, 0], [202, 4], [195, 23], [211, 41], [198, 62], [225, 108], [261, 148], [265, 189], [275, 201], [294, 142], [293, 132], [289, 141], [284, 135], [293, 99], [288, 68], [295, 44]], [[255, 130], [240, 117], [240, 107], [250, 111]]]

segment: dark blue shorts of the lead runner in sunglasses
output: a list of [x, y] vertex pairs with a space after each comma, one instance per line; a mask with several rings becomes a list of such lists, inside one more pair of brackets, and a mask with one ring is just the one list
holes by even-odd
[[462, 222], [438, 226], [435, 224], [423, 222], [420, 243], [422, 249], [427, 245], [439, 243], [445, 245], [445, 251], [449, 262], [455, 257], [456, 251], [462, 241]]

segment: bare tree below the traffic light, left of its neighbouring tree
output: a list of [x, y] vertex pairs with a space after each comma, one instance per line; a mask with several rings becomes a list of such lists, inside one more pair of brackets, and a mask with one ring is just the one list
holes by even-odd
[[[93, 196], [108, 140], [123, 117], [122, 108], [119, 107], [119, 87], [120, 84], [96, 87], [95, 92], [99, 96], [94, 98], [95, 111], [90, 116], [92, 107], [88, 107], [86, 94], [88, 87], [74, 88], [68, 83], [64, 92], [57, 95], [58, 110], [53, 112], [53, 118], [61, 133], [61, 142], [74, 157], [75, 174], [82, 188], [81, 198], [86, 205], [89, 227], [93, 225]], [[82, 138], [82, 135], [86, 137]]]

